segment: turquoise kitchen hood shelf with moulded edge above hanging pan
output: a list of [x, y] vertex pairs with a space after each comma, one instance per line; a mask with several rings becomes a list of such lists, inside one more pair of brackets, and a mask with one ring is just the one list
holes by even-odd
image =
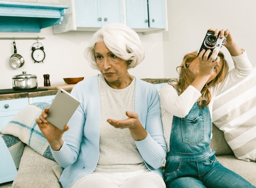
[[40, 32], [61, 24], [68, 5], [0, 1], [0, 32]]

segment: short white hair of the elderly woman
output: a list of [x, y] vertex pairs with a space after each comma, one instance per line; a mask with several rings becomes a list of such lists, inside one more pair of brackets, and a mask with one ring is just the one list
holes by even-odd
[[136, 67], [144, 60], [145, 53], [139, 35], [124, 24], [112, 23], [94, 33], [85, 50], [85, 56], [92, 69], [99, 70], [94, 51], [97, 42], [104, 42], [113, 54], [126, 60], [128, 69]]

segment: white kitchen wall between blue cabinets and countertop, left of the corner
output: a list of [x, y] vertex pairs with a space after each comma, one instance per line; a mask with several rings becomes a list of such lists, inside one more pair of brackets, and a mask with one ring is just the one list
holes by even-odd
[[[43, 86], [43, 74], [50, 75], [51, 85], [65, 84], [63, 78], [89, 78], [98, 74], [97, 70], [90, 68], [84, 56], [85, 47], [93, 33], [73, 31], [54, 35], [52, 27], [41, 29], [40, 33], [0, 33], [0, 37], [45, 37], [38, 42], [42, 43], [46, 54], [44, 63], [34, 63], [31, 46], [36, 40], [16, 39], [17, 54], [23, 56], [25, 64], [21, 68], [12, 69], [9, 58], [13, 54], [13, 40], [0, 40], [0, 89], [12, 88], [12, 76], [22, 74], [22, 71], [38, 76], [38, 86]], [[130, 73], [139, 78], [163, 78], [162, 33], [139, 36], [146, 57], [135, 69], [130, 69]]]

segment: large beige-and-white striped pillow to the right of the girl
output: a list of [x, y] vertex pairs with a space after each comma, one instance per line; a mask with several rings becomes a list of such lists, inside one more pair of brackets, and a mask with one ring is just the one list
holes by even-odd
[[256, 161], [256, 67], [247, 78], [216, 97], [213, 123], [224, 132], [238, 159]]

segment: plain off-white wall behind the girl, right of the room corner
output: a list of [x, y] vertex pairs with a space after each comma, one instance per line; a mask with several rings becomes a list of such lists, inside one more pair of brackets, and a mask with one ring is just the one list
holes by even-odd
[[[256, 65], [255, 0], [167, 0], [168, 33], [164, 33], [164, 77], [177, 77], [176, 67], [184, 54], [196, 51], [207, 29], [229, 29], [239, 47], [247, 50]], [[226, 59], [232, 59], [222, 47]]]

